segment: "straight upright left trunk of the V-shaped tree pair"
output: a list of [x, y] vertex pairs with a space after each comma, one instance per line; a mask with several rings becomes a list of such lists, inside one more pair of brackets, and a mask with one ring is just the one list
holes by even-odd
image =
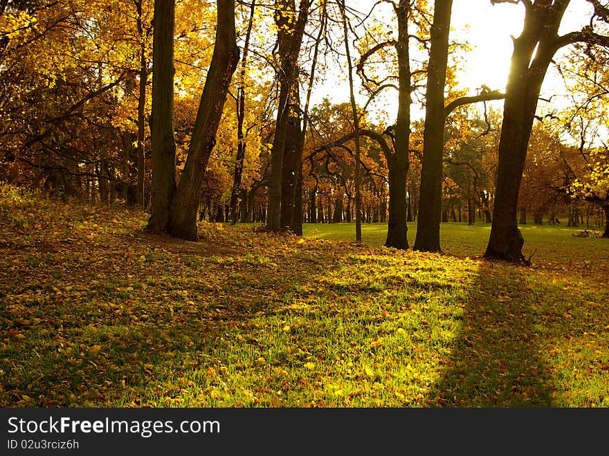
[[154, 0], [152, 68], [152, 208], [146, 230], [167, 232], [176, 189], [174, 142], [174, 0]]

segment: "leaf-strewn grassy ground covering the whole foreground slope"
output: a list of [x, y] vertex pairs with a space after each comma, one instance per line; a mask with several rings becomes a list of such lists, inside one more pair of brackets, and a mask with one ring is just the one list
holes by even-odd
[[606, 262], [145, 217], [0, 188], [0, 406], [609, 406]]

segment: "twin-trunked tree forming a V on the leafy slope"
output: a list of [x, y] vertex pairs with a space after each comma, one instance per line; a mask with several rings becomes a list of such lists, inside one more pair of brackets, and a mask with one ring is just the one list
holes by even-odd
[[[163, 0], [157, 1], [162, 2]], [[172, 3], [172, 0], [170, 1]], [[162, 7], [168, 8], [166, 5]], [[171, 8], [173, 7], [171, 6]], [[155, 202], [153, 203], [152, 216], [149, 219], [147, 230], [166, 232], [174, 237], [196, 240], [197, 210], [199, 209], [203, 174], [216, 143], [215, 136], [222, 116], [228, 85], [239, 60], [239, 49], [235, 36], [235, 3], [233, 0], [217, 1], [214, 53], [203, 87], [197, 119], [194, 122], [188, 156], [177, 188], [174, 184], [175, 145], [172, 127], [173, 57], [170, 57], [173, 54], [172, 24], [174, 19], [171, 11], [167, 11], [167, 9], [159, 11], [169, 12], [171, 18], [158, 17], [162, 19], [160, 22], [164, 27], [161, 30], [156, 30], [158, 24], [155, 24], [154, 31], [155, 37], [157, 33], [160, 36], [158, 37], [158, 47], [153, 49], [153, 56], [158, 51], [161, 53], [158, 58], [163, 57], [163, 60], [161, 60], [160, 66], [154, 66], [153, 69], [152, 129], [153, 131], [156, 131], [157, 127], [162, 129], [162, 133], [157, 133], [160, 136], [157, 139], [157, 144], [161, 143], [163, 146], [158, 149], [153, 146], [153, 175], [157, 174], [154, 179], [158, 183], [153, 184], [153, 201]], [[155, 17], [157, 17], [156, 14], [155, 12]], [[159, 14], [161, 13], [159, 12]], [[163, 75], [160, 82], [157, 79], [156, 72]], [[158, 86], [163, 87], [163, 91], [154, 91], [154, 80], [156, 80]], [[156, 98], [155, 94], [157, 95]], [[154, 109], [155, 102], [158, 111]], [[165, 110], [162, 111], [161, 109]], [[161, 122], [161, 126], [158, 126], [158, 122]]]

